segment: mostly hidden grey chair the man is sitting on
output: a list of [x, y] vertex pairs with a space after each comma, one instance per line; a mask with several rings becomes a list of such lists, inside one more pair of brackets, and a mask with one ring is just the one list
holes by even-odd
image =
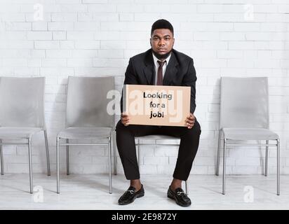
[[[135, 137], [135, 139], [137, 140], [137, 142], [135, 143], [135, 145], [137, 146], [137, 160], [138, 160], [138, 167], [140, 169], [140, 146], [180, 146], [180, 144], [144, 144], [141, 143], [142, 140], [180, 140], [180, 138], [177, 137], [171, 137], [168, 135], [147, 135], [147, 136], [142, 136], [142, 137]], [[188, 186], [187, 186], [187, 181], [184, 182], [185, 184], [185, 191], [186, 194], [189, 195], [189, 190], [188, 190]]]

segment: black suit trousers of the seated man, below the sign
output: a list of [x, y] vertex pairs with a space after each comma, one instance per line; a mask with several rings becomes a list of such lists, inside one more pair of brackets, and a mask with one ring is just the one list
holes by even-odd
[[116, 144], [126, 179], [140, 179], [140, 171], [137, 165], [137, 154], [135, 149], [135, 137], [150, 134], [180, 137], [180, 147], [173, 177], [175, 179], [187, 181], [196, 152], [199, 148], [201, 127], [197, 120], [194, 123], [194, 127], [191, 129], [188, 129], [187, 127], [152, 125], [124, 126], [123, 123], [121, 123], [121, 120], [119, 120], [119, 123], [116, 125]]

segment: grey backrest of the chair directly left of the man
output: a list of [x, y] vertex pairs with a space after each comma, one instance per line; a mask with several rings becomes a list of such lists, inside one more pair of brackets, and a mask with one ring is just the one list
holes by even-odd
[[114, 127], [107, 113], [107, 92], [114, 90], [114, 77], [69, 76], [66, 127]]

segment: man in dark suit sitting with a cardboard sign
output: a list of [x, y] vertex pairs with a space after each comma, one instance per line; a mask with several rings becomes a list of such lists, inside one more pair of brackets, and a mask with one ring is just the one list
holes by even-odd
[[152, 125], [129, 125], [130, 118], [123, 114], [121, 99], [121, 120], [116, 125], [116, 144], [130, 187], [119, 198], [119, 204], [130, 204], [145, 195], [137, 166], [135, 137], [149, 134], [164, 134], [180, 137], [180, 148], [173, 181], [168, 188], [168, 197], [177, 204], [187, 207], [191, 200], [182, 190], [182, 181], [187, 181], [196, 151], [199, 147], [201, 127], [194, 117], [196, 108], [196, 71], [191, 57], [173, 49], [175, 38], [173, 26], [167, 20], [157, 20], [152, 25], [150, 43], [152, 48], [130, 58], [124, 84], [133, 85], [183, 85], [191, 87], [190, 113], [187, 127]]

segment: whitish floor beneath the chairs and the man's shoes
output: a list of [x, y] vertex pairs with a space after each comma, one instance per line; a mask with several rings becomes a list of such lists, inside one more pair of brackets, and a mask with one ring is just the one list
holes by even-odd
[[289, 209], [289, 176], [281, 176], [281, 195], [277, 196], [273, 174], [228, 175], [226, 195], [221, 193], [222, 176], [191, 175], [188, 183], [192, 204], [187, 208], [166, 197], [170, 180], [168, 175], [142, 175], [145, 197], [119, 206], [117, 201], [128, 188], [121, 174], [113, 176], [112, 195], [108, 193], [107, 175], [62, 174], [58, 195], [55, 174], [34, 174], [34, 188], [43, 189], [43, 197], [41, 190], [29, 194], [28, 174], [5, 174], [0, 175], [0, 209]]

